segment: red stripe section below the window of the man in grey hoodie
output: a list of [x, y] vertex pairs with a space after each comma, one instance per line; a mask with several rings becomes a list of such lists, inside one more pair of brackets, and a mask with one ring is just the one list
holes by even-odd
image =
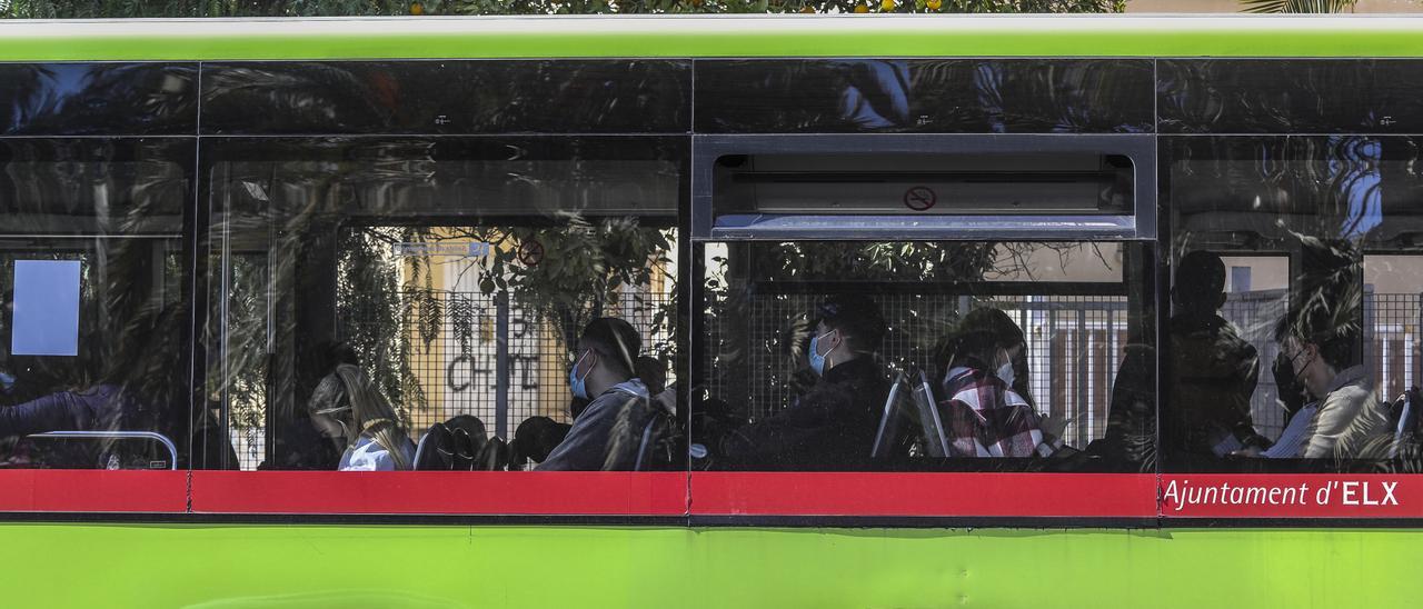
[[194, 471], [212, 514], [683, 515], [683, 472]]

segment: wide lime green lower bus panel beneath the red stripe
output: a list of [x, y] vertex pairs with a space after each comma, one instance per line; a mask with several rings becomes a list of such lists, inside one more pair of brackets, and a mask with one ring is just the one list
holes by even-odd
[[[0, 525], [4, 606], [1416, 606], [1423, 532]], [[74, 582], [83, 585], [67, 585]]]

